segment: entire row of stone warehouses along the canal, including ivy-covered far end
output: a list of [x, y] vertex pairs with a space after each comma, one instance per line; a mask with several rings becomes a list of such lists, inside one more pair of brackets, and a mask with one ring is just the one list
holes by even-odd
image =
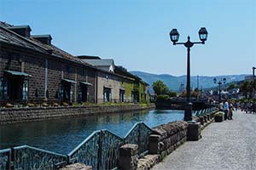
[[[51, 39], [50, 35], [31, 35], [30, 26], [0, 22], [1, 105], [147, 101], [147, 97], [135, 97], [138, 82], [131, 75], [90, 65], [55, 47]], [[148, 84], [141, 84], [142, 95], [148, 95]]]

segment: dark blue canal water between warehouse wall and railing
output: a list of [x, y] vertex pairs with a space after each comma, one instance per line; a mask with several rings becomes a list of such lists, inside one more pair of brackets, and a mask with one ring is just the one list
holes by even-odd
[[156, 127], [182, 119], [183, 111], [154, 110], [0, 125], [0, 149], [26, 144], [68, 154], [96, 130], [125, 137], [136, 122]]

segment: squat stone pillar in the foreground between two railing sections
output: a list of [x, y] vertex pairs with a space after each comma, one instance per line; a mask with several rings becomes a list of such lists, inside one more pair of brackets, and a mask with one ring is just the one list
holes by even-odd
[[138, 163], [138, 145], [124, 144], [119, 148], [119, 168], [136, 170]]

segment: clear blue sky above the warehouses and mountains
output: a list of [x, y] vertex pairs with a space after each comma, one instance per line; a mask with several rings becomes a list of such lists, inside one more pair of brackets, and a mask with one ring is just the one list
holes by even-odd
[[172, 45], [207, 42], [191, 48], [191, 76], [252, 74], [256, 66], [255, 0], [0, 0], [0, 20], [50, 34], [52, 43], [73, 55], [114, 59], [128, 71], [186, 75], [187, 49]]

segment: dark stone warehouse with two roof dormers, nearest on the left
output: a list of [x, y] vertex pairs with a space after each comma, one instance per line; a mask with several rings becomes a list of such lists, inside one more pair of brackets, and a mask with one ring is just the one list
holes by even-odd
[[29, 26], [0, 26], [0, 99], [3, 102], [96, 102], [96, 67], [56, 48]]

